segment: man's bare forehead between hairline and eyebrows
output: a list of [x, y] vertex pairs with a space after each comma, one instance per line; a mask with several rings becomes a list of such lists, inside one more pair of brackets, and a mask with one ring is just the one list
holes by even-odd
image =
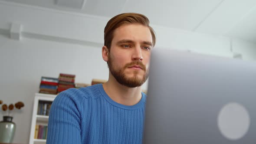
[[122, 39], [130, 39], [134, 42], [148, 41], [152, 43], [150, 29], [141, 24], [125, 24], [115, 29], [112, 43], [116, 43]]

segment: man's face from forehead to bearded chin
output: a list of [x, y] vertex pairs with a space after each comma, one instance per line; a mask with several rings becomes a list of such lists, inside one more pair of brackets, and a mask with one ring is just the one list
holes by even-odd
[[141, 86], [148, 79], [152, 37], [148, 27], [127, 24], [113, 33], [108, 54], [108, 67], [114, 78], [130, 88]]

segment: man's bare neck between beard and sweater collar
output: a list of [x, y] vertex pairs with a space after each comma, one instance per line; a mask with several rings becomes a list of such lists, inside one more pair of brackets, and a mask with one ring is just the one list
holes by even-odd
[[121, 85], [112, 75], [103, 84], [103, 88], [113, 101], [122, 105], [135, 105], [141, 100], [141, 86], [129, 88]]

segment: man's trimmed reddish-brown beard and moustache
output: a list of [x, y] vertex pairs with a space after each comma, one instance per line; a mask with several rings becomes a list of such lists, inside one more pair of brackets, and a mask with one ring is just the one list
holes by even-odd
[[[138, 77], [138, 71], [134, 71], [132, 77], [128, 77], [125, 75], [125, 69], [128, 69], [133, 65], [139, 65], [142, 68], [142, 70], [144, 71], [144, 75], [142, 76], [142, 78]], [[112, 58], [109, 53], [108, 68], [119, 84], [125, 85], [129, 88], [141, 86], [148, 79], [148, 69], [146, 69], [146, 66], [140, 60], [127, 63], [123, 68], [118, 68], [116, 65], [113, 64]]]

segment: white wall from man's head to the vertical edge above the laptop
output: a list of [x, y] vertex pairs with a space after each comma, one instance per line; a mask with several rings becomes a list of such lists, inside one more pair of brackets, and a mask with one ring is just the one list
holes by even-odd
[[230, 38], [228, 37], [193, 33], [161, 26], [153, 26], [153, 28], [157, 32], [157, 46], [159, 47], [232, 57]]

